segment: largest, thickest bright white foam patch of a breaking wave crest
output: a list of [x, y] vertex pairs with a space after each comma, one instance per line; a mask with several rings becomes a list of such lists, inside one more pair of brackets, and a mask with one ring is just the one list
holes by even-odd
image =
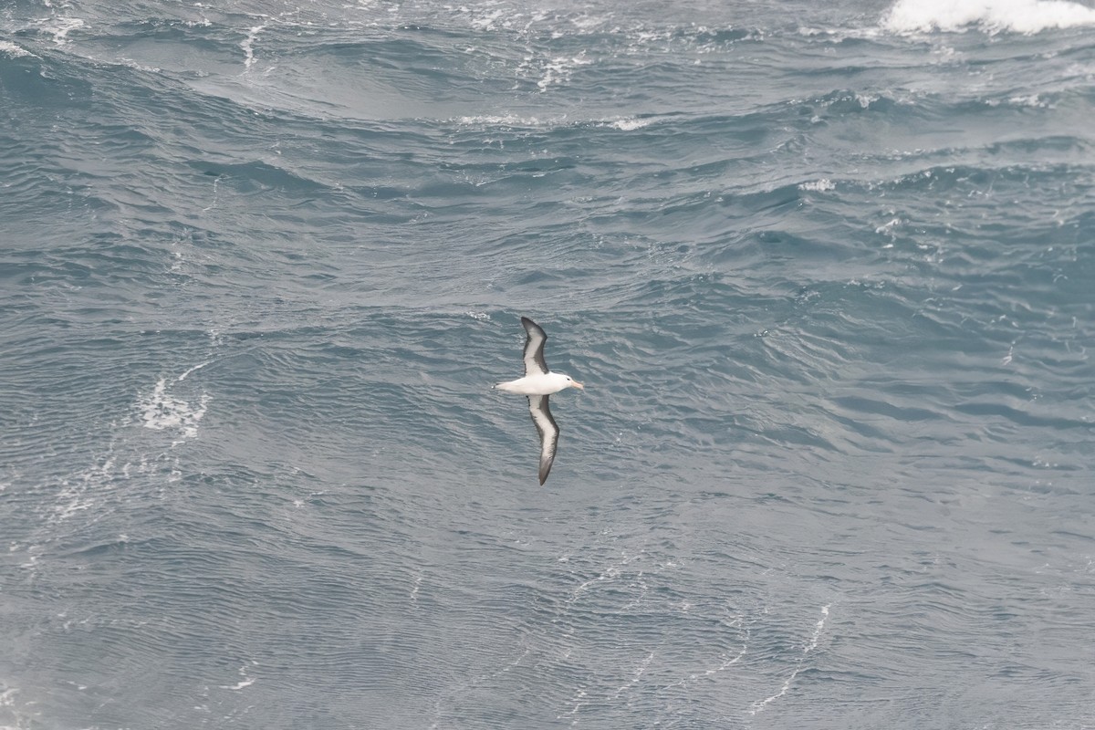
[[1038, 33], [1095, 25], [1095, 9], [1068, 0], [898, 0], [883, 19], [896, 33], [966, 31]]

